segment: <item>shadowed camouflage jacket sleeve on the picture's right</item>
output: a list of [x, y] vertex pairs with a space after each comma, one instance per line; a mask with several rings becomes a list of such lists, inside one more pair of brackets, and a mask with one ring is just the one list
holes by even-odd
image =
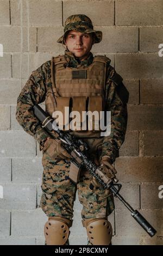
[[111, 111], [111, 133], [104, 137], [102, 156], [108, 156], [113, 163], [126, 134], [128, 91], [112, 66], [108, 68], [105, 99], [106, 110]]

